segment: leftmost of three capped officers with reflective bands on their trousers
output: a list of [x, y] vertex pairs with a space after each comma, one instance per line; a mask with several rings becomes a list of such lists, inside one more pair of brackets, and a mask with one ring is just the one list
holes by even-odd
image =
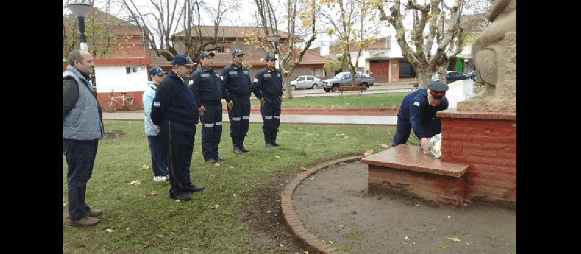
[[202, 155], [209, 163], [223, 161], [218, 155], [222, 137], [223, 87], [220, 75], [212, 68], [214, 53], [202, 51], [200, 67], [189, 78], [189, 89], [198, 102], [198, 114], [202, 120]]

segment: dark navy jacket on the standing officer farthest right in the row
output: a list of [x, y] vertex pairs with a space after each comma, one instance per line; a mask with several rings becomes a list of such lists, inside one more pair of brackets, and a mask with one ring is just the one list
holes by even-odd
[[271, 71], [268, 67], [264, 67], [252, 80], [252, 91], [256, 98], [272, 97], [282, 95], [282, 79], [281, 71], [274, 69]]

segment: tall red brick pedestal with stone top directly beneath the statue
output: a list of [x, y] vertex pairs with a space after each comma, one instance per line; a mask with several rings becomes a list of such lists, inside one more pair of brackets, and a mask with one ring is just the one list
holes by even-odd
[[516, 113], [437, 113], [442, 117], [442, 161], [468, 164], [466, 198], [514, 207], [517, 203]]

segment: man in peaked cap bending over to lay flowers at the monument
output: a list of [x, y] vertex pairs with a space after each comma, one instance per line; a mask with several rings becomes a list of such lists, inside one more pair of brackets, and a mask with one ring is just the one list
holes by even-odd
[[392, 147], [405, 144], [410, 138], [410, 131], [421, 142], [422, 149], [428, 150], [428, 138], [442, 132], [442, 120], [436, 112], [448, 108], [446, 91], [448, 85], [438, 82], [428, 84], [428, 89], [418, 89], [406, 95], [397, 113], [396, 135]]

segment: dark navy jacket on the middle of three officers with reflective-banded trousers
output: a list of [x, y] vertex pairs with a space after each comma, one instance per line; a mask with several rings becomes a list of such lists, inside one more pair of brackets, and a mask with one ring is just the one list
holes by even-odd
[[244, 67], [238, 67], [234, 62], [220, 72], [224, 100], [230, 101], [230, 96], [250, 97], [250, 72]]

